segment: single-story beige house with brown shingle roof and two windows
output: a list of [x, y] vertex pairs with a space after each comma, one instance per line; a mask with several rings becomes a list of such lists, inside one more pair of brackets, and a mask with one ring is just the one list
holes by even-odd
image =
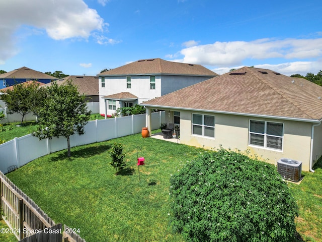
[[244, 67], [141, 105], [149, 130], [151, 109], [166, 110], [181, 144], [294, 159], [306, 171], [322, 155], [322, 87], [305, 79]]

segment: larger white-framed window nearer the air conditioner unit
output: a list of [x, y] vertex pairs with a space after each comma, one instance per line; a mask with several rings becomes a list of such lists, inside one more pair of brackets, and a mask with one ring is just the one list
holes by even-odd
[[267, 149], [283, 149], [283, 124], [250, 120], [249, 145]]

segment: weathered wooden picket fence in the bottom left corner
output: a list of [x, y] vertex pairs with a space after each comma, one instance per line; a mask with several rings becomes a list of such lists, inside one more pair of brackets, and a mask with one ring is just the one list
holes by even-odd
[[[64, 230], [61, 231], [60, 237], [50, 232], [53, 231], [50, 229], [57, 229], [59, 226], [57, 225], [57, 227], [55, 222], [1, 171], [0, 190], [0, 208], [3, 211], [3, 219], [10, 227], [10, 231], [14, 232], [19, 240], [26, 238], [23, 242], [86, 242], [66, 225], [64, 225]], [[34, 237], [28, 238], [29, 236]], [[55, 240], [57, 237], [59, 239]]]

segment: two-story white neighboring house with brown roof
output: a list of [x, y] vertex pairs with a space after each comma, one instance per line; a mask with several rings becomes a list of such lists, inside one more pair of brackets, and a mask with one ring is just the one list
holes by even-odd
[[112, 115], [119, 107], [140, 104], [218, 75], [201, 65], [155, 58], [140, 59], [98, 76], [100, 112]]

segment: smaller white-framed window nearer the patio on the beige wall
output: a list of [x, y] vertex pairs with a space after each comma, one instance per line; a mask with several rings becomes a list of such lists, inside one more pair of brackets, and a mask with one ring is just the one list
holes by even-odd
[[215, 116], [193, 113], [192, 134], [215, 138]]

